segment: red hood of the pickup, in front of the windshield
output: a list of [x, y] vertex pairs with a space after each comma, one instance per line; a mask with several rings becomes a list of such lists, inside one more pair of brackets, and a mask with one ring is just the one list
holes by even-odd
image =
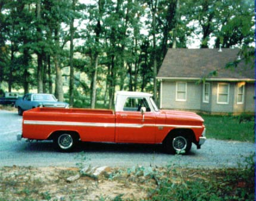
[[173, 110], [161, 110], [161, 114], [166, 114], [166, 121], [172, 121], [173, 123], [190, 123], [196, 125], [202, 125], [204, 120], [194, 112], [186, 111], [173, 111]]

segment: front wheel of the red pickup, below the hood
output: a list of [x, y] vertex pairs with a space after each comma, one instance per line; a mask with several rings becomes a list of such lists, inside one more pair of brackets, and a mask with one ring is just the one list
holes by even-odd
[[186, 154], [191, 150], [191, 137], [183, 134], [172, 134], [167, 136], [164, 146], [167, 153], [171, 154]]

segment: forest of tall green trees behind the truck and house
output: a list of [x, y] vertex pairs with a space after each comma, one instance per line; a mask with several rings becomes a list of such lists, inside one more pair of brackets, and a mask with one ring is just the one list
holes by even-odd
[[[253, 0], [0, 0], [0, 90], [113, 108], [158, 95], [168, 48], [254, 48]], [[250, 55], [249, 55], [250, 56]]]

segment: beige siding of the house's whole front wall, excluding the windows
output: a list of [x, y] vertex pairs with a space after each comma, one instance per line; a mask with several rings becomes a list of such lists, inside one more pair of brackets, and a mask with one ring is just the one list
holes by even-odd
[[[184, 82], [184, 81], [182, 81]], [[244, 101], [238, 103], [239, 82], [217, 82], [210, 81], [209, 103], [202, 100], [203, 84], [195, 81], [186, 81], [186, 101], [176, 101], [177, 81], [163, 80], [161, 83], [161, 109], [180, 109], [209, 112], [211, 114], [241, 114], [242, 112], [255, 111], [255, 86], [254, 83], [245, 83]], [[227, 104], [217, 103], [218, 83], [229, 84], [229, 102]]]

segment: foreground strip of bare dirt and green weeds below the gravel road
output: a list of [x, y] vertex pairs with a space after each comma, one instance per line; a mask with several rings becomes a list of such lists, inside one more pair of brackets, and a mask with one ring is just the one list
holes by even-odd
[[0, 200], [255, 200], [254, 172], [175, 166], [4, 167]]

